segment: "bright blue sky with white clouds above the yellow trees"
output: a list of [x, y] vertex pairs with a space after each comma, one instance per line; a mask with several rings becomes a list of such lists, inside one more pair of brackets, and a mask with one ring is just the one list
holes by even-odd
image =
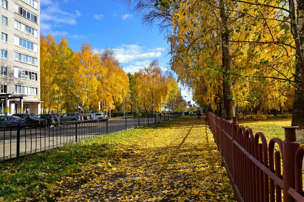
[[[74, 51], [84, 40], [97, 50], [112, 48], [126, 73], [134, 74], [155, 58], [166, 71], [170, 59], [164, 34], [143, 26], [119, 0], [41, 0], [40, 31], [57, 41], [65, 36]], [[187, 91], [182, 95], [192, 97]]]

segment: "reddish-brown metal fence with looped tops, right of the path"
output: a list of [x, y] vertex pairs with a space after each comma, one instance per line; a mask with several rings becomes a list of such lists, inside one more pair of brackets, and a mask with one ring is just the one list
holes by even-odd
[[[233, 185], [234, 198], [246, 202], [304, 202], [304, 146], [296, 141], [296, 126], [283, 127], [285, 141], [239, 126], [207, 112], [214, 140]], [[261, 143], [260, 143], [261, 142]], [[280, 151], [275, 152], [275, 145]], [[281, 163], [282, 159], [282, 163]], [[282, 165], [282, 167], [281, 167]]]

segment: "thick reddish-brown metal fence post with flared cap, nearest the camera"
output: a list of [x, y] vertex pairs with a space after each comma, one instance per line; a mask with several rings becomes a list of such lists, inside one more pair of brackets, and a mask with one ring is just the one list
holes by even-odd
[[296, 136], [298, 126], [282, 128], [285, 129], [285, 141], [283, 142], [283, 199], [284, 202], [294, 202], [295, 199], [288, 193], [288, 190], [289, 187], [295, 189], [295, 153], [300, 146]]

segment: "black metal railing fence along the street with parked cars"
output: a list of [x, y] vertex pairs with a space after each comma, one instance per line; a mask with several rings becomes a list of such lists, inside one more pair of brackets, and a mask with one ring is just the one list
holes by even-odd
[[[60, 122], [58, 125], [28, 124], [0, 127], [0, 162], [54, 149], [67, 143], [120, 132], [181, 116], [181, 112], [125, 116], [108, 120]], [[101, 120], [101, 121], [100, 121]], [[37, 126], [33, 128], [31, 126]]]

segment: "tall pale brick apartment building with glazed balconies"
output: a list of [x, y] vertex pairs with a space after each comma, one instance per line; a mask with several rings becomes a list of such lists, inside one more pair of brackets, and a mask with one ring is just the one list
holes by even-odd
[[40, 3], [1, 0], [0, 114], [40, 113]]

